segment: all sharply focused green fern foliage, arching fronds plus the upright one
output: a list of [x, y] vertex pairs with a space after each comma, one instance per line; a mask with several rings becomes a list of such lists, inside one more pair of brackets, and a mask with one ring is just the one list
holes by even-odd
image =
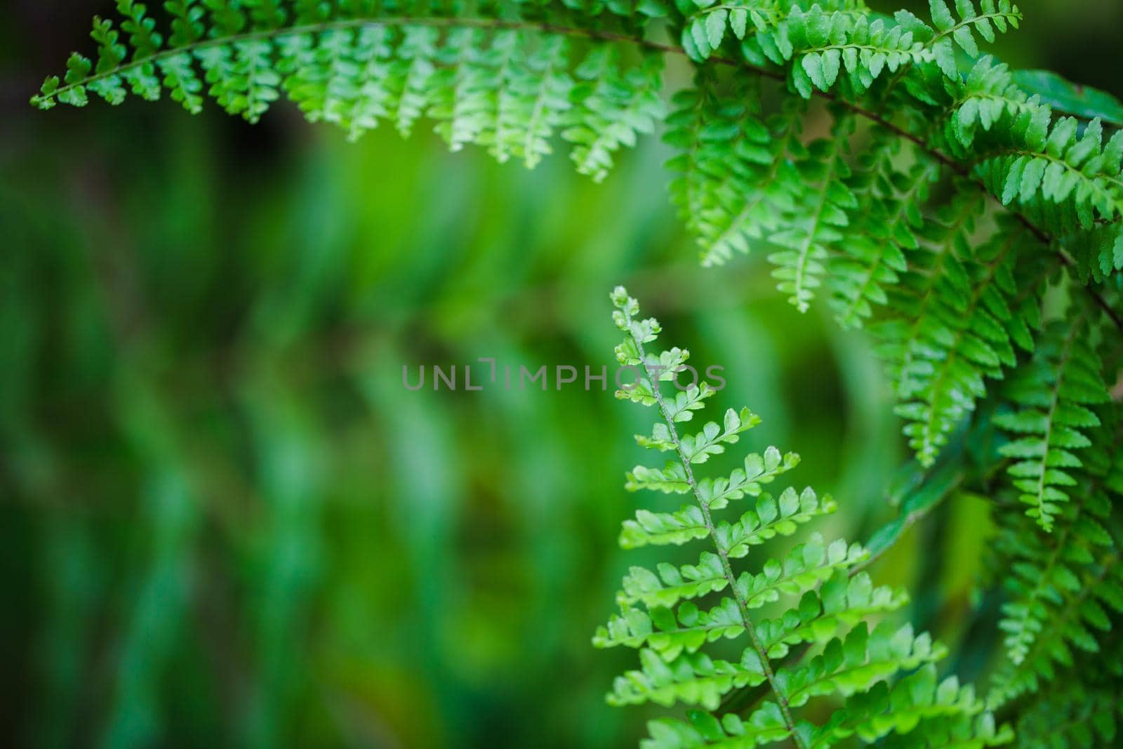
[[[1084, 656], [1117, 650], [1112, 633], [1123, 611], [1113, 402], [1123, 335], [1123, 106], [1106, 94], [1058, 97], [1068, 84], [1056, 76], [1012, 71], [985, 54], [980, 45], [1022, 22], [1010, 0], [930, 0], [923, 18], [876, 12], [862, 0], [176, 0], [161, 9], [118, 0], [117, 8], [120, 21], [94, 21], [95, 56], [73, 55], [33, 103], [166, 94], [192, 112], [210, 99], [256, 121], [284, 97], [350, 137], [380, 124], [409, 134], [427, 120], [454, 149], [478, 144], [530, 166], [566, 143], [578, 171], [595, 179], [622, 147], [661, 128], [674, 150], [672, 198], [702, 262], [761, 253], [801, 311], [822, 302], [841, 326], [867, 329], [905, 438], [932, 472], [924, 481], [939, 472], [966, 477], [937, 501], [959, 493], [992, 501], [998, 530], [979, 593], [1001, 608], [1005, 643], [988, 664], [989, 707], [1016, 715], [1008, 722], [1024, 732], [1019, 740], [1040, 746], [1065, 736], [1051, 721], [1079, 724], [1088, 704], [1119, 692], [1119, 675]], [[690, 84], [666, 90], [676, 77], [664, 74], [667, 58], [690, 66]], [[646, 366], [641, 349], [655, 328], [617, 301], [632, 336], [621, 356]], [[893, 681], [939, 648], [903, 630], [867, 630], [858, 623], [865, 613], [847, 613], [901, 600], [860, 574], [847, 577], [858, 547], [811, 537], [794, 556], [733, 576], [730, 558], [833, 505], [811, 493], [766, 499], [766, 479], [792, 467], [774, 453], [727, 479], [695, 482], [692, 465], [754, 418], [730, 412], [679, 439], [675, 423], [709, 393], [666, 403], [651, 385], [658, 378], [648, 380], [649, 390], [629, 395], [657, 405], [667, 423], [645, 445], [678, 459], [633, 472], [630, 485], [694, 494], [696, 506], [640, 513], [622, 540], [715, 545], [697, 565], [636, 570], [620, 616], [597, 638], [641, 648], [642, 669], [620, 682], [614, 701], [705, 709], [691, 723], [656, 723], [651, 746], [1004, 738], [973, 696], [934, 686], [926, 666]], [[739, 521], [711, 521], [711, 511], [747, 494], [760, 499]], [[692, 603], [719, 593], [727, 597], [710, 610]], [[750, 620], [750, 604], [782, 593], [806, 603]], [[840, 628], [851, 633], [829, 640]], [[742, 637], [743, 657], [702, 652]], [[822, 650], [805, 665], [770, 664], [807, 642]], [[856, 666], [875, 660], [885, 669]], [[861, 677], [831, 676], [847, 664]], [[1078, 677], [1087, 701], [1066, 689]], [[723, 694], [755, 685], [773, 695], [757, 712], [714, 714]], [[797, 720], [793, 710], [820, 692], [841, 695], [843, 706], [818, 727]], [[917, 720], [928, 728], [909, 730]], [[1077, 728], [1074, 746], [1110, 745], [1114, 733], [1102, 721]]]

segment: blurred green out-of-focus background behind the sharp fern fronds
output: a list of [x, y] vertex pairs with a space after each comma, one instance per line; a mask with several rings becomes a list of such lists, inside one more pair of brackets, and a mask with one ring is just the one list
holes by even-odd
[[[615, 538], [652, 504], [622, 488], [650, 414], [401, 381], [481, 356], [599, 369], [618, 283], [725, 367], [720, 405], [765, 419], [748, 447], [803, 455], [833, 531], [892, 517], [905, 451], [867, 341], [798, 316], [760, 257], [700, 268], [656, 138], [596, 185], [562, 154], [527, 172], [428, 131], [349, 145], [287, 107], [257, 127], [30, 110], [111, 4], [2, 6], [0, 742], [634, 742], [642, 711], [602, 696], [633, 654], [590, 637], [643, 559]], [[1119, 93], [1117, 2], [1022, 4], [1002, 55]], [[952, 641], [983, 508], [874, 570]]]

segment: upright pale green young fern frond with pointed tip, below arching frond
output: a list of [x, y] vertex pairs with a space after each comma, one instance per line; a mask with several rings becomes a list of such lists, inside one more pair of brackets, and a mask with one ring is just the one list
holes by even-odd
[[[813, 490], [787, 487], [773, 495], [766, 486], [796, 466], [797, 458], [776, 448], [749, 454], [743, 467], [728, 477], [700, 476], [696, 466], [739, 440], [757, 419], [748, 409], [725, 412], [722, 422], [709, 422], [696, 433], [684, 424], [699, 409], [676, 408], [679, 396], [700, 403], [713, 395], [704, 385], [681, 391], [673, 400], [660, 385], [674, 382], [688, 353], [673, 348], [649, 351], [660, 332], [658, 321], [641, 319], [639, 304], [623, 287], [612, 293], [613, 319], [626, 338], [617, 359], [631, 367], [634, 385], [618, 398], [654, 407], [660, 421], [651, 435], [637, 441], [673, 457], [664, 468], [638, 466], [628, 475], [628, 488], [687, 495], [690, 502], [673, 513], [639, 511], [624, 523], [621, 542], [636, 546], [685, 545], [709, 539], [710, 550], [696, 565], [660, 564], [655, 572], [632, 567], [618, 595], [621, 611], [597, 630], [597, 647], [639, 649], [640, 667], [619, 677], [609, 695], [615, 705], [654, 702], [701, 707], [688, 721], [661, 719], [650, 724], [649, 749], [720, 746], [755, 747], [788, 741], [797, 747], [830, 747], [858, 736], [875, 741], [891, 733], [909, 734], [919, 723], [925, 733], [902, 746], [929, 746], [928, 737], [962, 736], [973, 746], [1008, 740], [983, 716], [983, 705], [969, 687], [951, 677], [937, 685], [934, 667], [946, 649], [911, 625], [883, 621], [870, 629], [866, 619], [892, 612], [904, 594], [875, 588], [855, 566], [868, 552], [858, 544], [828, 542], [819, 533], [794, 546], [783, 558], [755, 565], [760, 572], [734, 572], [733, 561], [775, 536], [793, 536], [836, 503]], [[681, 433], [681, 430], [682, 433]], [[740, 520], [720, 520], [715, 513], [731, 502], [755, 497], [754, 509]], [[851, 575], [850, 572], [856, 574]], [[709, 610], [696, 601], [718, 594]], [[777, 618], [751, 612], [783, 602]], [[736, 660], [713, 658], [705, 646], [738, 640], [747, 647]], [[794, 646], [810, 646], [805, 660], [780, 661]], [[919, 670], [917, 670], [919, 669]], [[897, 678], [898, 675], [909, 674]], [[715, 714], [722, 697], [733, 689], [767, 685], [769, 697], [748, 718]], [[816, 725], [797, 712], [827, 696], [842, 700], [830, 722]], [[983, 716], [983, 718], [980, 718]]]

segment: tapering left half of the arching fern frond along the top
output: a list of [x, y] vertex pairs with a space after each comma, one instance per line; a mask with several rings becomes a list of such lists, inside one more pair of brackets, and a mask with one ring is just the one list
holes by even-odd
[[[351, 139], [380, 121], [409, 134], [429, 117], [454, 150], [475, 143], [501, 162], [515, 157], [528, 166], [550, 153], [562, 131], [581, 171], [597, 179], [614, 150], [661, 117], [661, 57], [648, 55], [627, 70], [614, 45], [588, 43], [577, 64], [569, 36], [579, 26], [553, 30], [532, 6], [526, 13], [536, 18], [522, 19], [521, 4], [494, 18], [484, 8], [462, 18], [423, 3], [393, 12], [368, 4], [185, 0], [168, 3], [165, 36], [144, 4], [122, 0], [127, 38], [111, 20], [97, 19], [95, 60], [72, 56], [65, 79], [48, 79], [33, 103], [84, 106], [92, 93], [117, 104], [130, 91], [153, 101], [166, 90], [191, 112], [209, 97], [256, 122], [286, 97], [309, 120], [338, 125]], [[636, 12], [658, 15], [666, 8], [655, 0]], [[569, 117], [572, 110], [579, 116]]]

